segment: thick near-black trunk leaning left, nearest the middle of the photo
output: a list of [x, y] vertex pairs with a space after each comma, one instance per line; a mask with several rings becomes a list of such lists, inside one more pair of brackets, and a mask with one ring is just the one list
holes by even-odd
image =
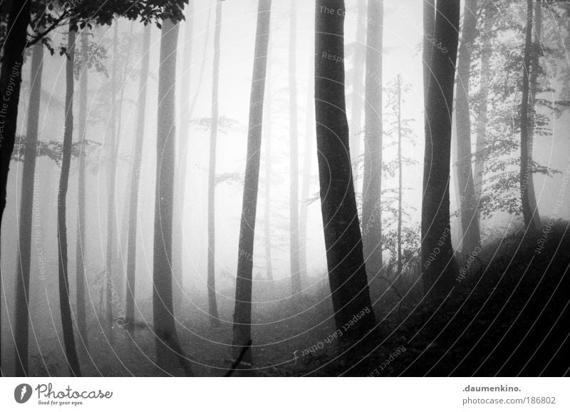
[[348, 341], [371, 329], [375, 317], [348, 141], [343, 63], [345, 11], [343, 0], [316, 1], [315, 118], [321, 212], [336, 327], [341, 328], [357, 314], [361, 317], [343, 334], [342, 339]]

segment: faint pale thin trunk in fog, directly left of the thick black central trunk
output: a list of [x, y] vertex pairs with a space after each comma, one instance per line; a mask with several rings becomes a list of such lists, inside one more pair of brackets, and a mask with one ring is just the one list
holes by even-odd
[[309, 192], [311, 190], [311, 163], [313, 156], [311, 148], [313, 147], [313, 130], [315, 127], [314, 118], [314, 78], [315, 68], [313, 64], [309, 65], [309, 81], [307, 81], [306, 95], [306, 128], [305, 128], [305, 148], [303, 160], [303, 187], [301, 187], [301, 215], [299, 218], [299, 227], [301, 235], [299, 236], [299, 257], [301, 260], [301, 279], [307, 277], [307, 227], [309, 218]]

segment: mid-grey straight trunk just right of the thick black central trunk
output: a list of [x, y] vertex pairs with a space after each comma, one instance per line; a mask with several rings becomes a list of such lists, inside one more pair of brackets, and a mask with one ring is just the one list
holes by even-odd
[[366, 108], [364, 111], [364, 175], [362, 222], [368, 274], [378, 276], [382, 262], [382, 47], [383, 0], [368, 0], [366, 34]]

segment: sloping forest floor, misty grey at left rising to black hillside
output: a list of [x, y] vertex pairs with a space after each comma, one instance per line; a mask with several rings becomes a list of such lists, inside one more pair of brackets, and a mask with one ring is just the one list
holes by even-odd
[[[537, 245], [544, 240], [543, 232], [489, 244], [470, 267], [469, 277], [457, 282], [437, 306], [425, 304], [417, 287], [409, 288], [417, 274], [410, 274], [394, 292], [385, 289], [385, 279], [376, 279], [380, 282], [372, 282], [371, 296], [377, 324], [355, 346], [328, 339], [336, 327], [326, 274], [307, 278], [309, 288], [298, 299], [286, 298], [287, 279], [254, 281], [254, 374], [569, 375], [568, 229], [567, 222], [554, 225], [541, 250]], [[219, 299], [219, 326], [209, 323], [204, 297], [180, 299], [176, 309], [180, 343], [192, 359], [195, 376], [224, 376], [231, 365], [232, 285], [226, 289], [221, 292], [227, 298]], [[150, 302], [147, 306], [144, 310], [152, 319]], [[152, 329], [145, 319], [141, 325], [134, 339], [115, 327], [113, 341], [100, 332], [100, 325], [90, 328], [89, 349], [77, 344], [83, 375], [165, 376], [154, 364]], [[53, 345], [56, 353], [57, 343]], [[61, 356], [32, 355], [31, 370], [36, 376], [66, 376], [63, 361]]]

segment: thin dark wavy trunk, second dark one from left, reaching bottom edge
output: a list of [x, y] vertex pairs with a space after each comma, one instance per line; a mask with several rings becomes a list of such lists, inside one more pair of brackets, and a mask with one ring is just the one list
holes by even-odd
[[59, 305], [61, 310], [61, 326], [66, 359], [71, 376], [81, 376], [76, 343], [73, 336], [71, 306], [69, 304], [68, 252], [66, 228], [66, 195], [71, 165], [71, 144], [73, 139], [73, 63], [75, 61], [76, 30], [70, 24], [68, 31], [68, 58], [66, 60], [66, 121], [63, 133], [63, 158], [61, 160], [61, 177], [58, 191], [58, 255], [59, 255]]

